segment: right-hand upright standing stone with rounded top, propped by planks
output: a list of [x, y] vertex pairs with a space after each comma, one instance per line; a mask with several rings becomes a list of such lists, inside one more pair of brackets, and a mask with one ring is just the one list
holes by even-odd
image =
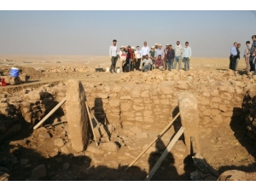
[[190, 152], [190, 137], [194, 136], [197, 153], [200, 153], [198, 135], [199, 116], [195, 96], [193, 96], [192, 93], [185, 91], [177, 97], [177, 102], [182, 125], [186, 128], [186, 130], [184, 131], [185, 144]]

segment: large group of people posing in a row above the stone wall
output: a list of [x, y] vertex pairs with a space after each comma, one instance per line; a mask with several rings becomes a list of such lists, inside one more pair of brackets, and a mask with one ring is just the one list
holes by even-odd
[[119, 59], [123, 72], [143, 71], [147, 72], [154, 68], [160, 70], [181, 69], [181, 62], [184, 62], [185, 71], [189, 71], [189, 60], [192, 55], [189, 42], [183, 47], [179, 41], [172, 48], [172, 44], [166, 44], [166, 49], [162, 49], [161, 44], [154, 44], [151, 49], [145, 41], [143, 47], [121, 46], [118, 49], [117, 40], [113, 39], [113, 45], [109, 47], [109, 56], [111, 59], [110, 73], [116, 73], [116, 63]]

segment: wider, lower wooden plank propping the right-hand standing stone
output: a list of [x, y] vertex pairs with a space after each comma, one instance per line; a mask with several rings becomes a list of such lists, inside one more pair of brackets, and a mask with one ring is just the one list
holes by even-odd
[[144, 181], [149, 181], [153, 176], [154, 173], [158, 170], [163, 160], [165, 160], [166, 155], [171, 151], [172, 147], [175, 143], [177, 143], [177, 140], [181, 135], [183, 134], [183, 131], [185, 128], [182, 126], [179, 131], [177, 131], [176, 135], [172, 138], [172, 141], [167, 145], [165, 151], [161, 154], [160, 159], [157, 160], [152, 170], [148, 173], [148, 176], [145, 178]]

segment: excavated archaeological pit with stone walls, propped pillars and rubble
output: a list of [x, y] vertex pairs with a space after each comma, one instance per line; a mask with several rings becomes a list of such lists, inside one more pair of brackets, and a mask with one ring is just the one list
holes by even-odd
[[254, 73], [20, 68], [0, 68], [0, 180], [256, 180]]

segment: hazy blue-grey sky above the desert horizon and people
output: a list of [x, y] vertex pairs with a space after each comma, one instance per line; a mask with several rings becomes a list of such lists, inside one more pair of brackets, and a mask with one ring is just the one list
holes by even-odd
[[108, 55], [117, 45], [184, 45], [192, 57], [241, 56], [256, 33], [256, 11], [0, 11], [0, 54]]

